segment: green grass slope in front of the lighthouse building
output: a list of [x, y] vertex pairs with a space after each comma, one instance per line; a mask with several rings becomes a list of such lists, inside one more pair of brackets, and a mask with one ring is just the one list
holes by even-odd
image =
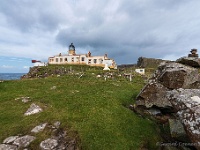
[[[156, 149], [159, 141], [156, 125], [126, 108], [143, 87], [141, 77], [132, 82], [120, 79], [96, 78], [90, 73], [4, 81], [0, 83], [0, 142], [30, 130], [44, 122], [61, 121], [61, 127], [77, 131], [84, 150], [137, 150], [142, 144]], [[51, 90], [51, 87], [56, 89]], [[24, 116], [31, 102], [15, 98], [29, 96], [44, 111]], [[37, 134], [38, 144], [48, 132]]]

